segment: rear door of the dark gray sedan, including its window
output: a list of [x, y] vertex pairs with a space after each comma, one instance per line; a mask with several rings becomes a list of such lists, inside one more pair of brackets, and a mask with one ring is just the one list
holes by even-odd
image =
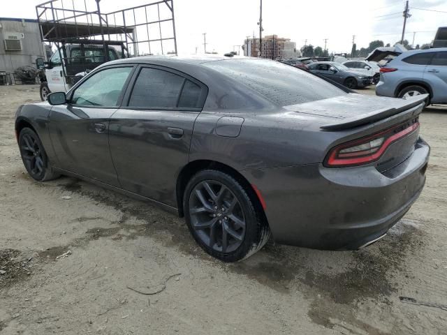
[[110, 151], [126, 191], [177, 207], [176, 177], [189, 161], [207, 87], [169, 68], [140, 66], [110, 119]]

